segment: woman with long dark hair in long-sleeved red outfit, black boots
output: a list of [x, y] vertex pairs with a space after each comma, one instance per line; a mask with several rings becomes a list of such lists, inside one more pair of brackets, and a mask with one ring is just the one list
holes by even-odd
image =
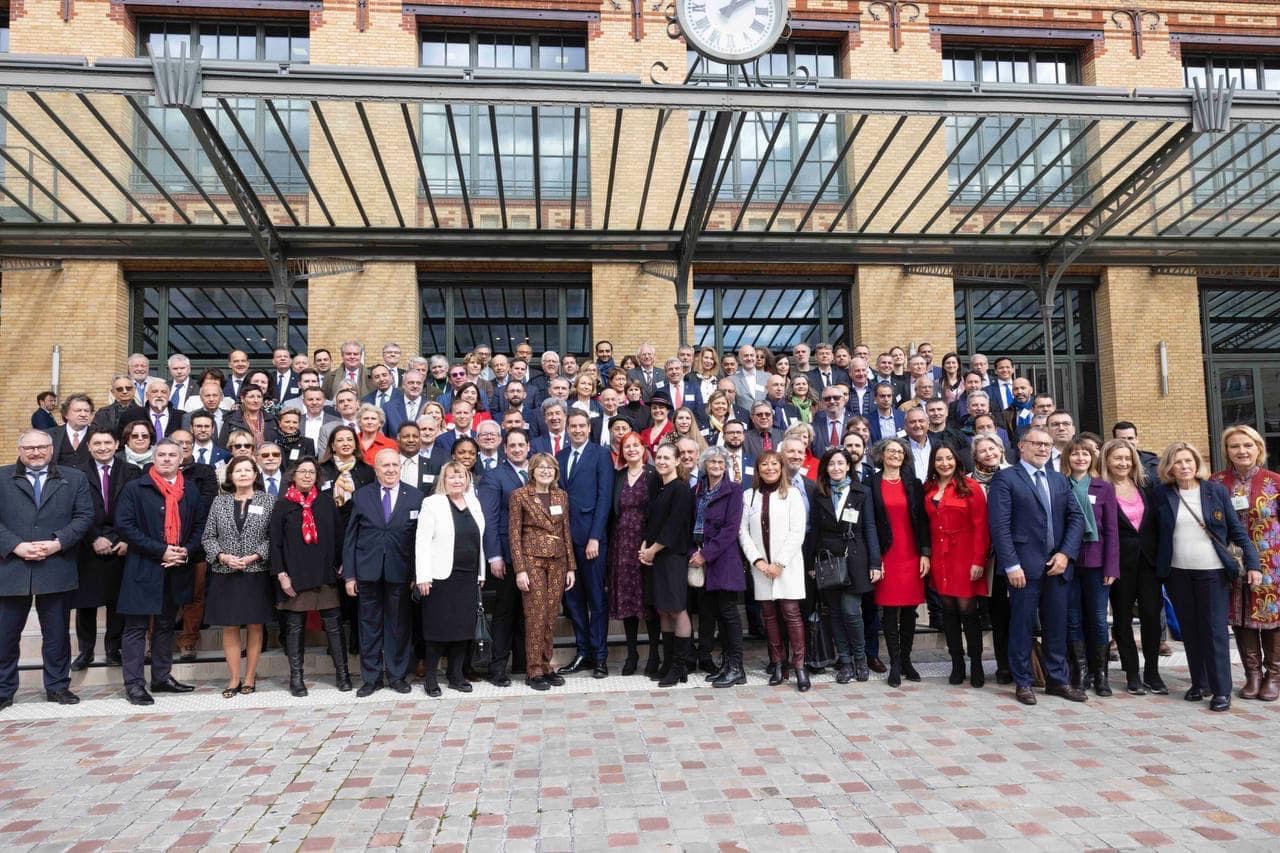
[[[964, 681], [964, 644], [969, 644], [969, 684], [984, 683], [982, 671], [982, 621], [978, 598], [988, 596], [987, 496], [960, 467], [955, 451], [934, 444], [929, 478], [924, 483], [924, 508], [929, 514], [933, 588], [942, 599], [942, 633], [951, 653], [951, 684]], [[964, 638], [961, 639], [961, 630]]]

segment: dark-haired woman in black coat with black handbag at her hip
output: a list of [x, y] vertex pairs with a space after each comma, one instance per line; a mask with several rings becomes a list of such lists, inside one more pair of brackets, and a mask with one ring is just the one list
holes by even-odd
[[852, 457], [844, 447], [829, 447], [818, 464], [818, 494], [809, 506], [813, 560], [844, 555], [847, 580], [820, 589], [831, 611], [831, 628], [840, 656], [838, 684], [865, 681], [867, 644], [863, 634], [863, 596], [881, 579], [879, 539], [870, 491], [852, 475]]

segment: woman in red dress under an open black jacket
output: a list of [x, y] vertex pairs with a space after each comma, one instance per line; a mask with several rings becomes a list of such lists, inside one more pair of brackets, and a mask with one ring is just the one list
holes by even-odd
[[888, 647], [888, 685], [902, 678], [919, 681], [911, 666], [915, 639], [915, 610], [924, 601], [924, 578], [929, 574], [929, 517], [924, 514], [924, 489], [906, 461], [906, 448], [896, 438], [881, 448], [881, 470], [868, 485], [876, 502], [876, 534], [881, 540], [884, 578], [876, 585], [881, 606], [884, 646]]

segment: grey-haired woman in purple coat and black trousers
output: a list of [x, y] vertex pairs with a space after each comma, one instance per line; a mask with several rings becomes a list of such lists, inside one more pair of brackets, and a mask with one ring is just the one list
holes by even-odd
[[694, 546], [691, 567], [705, 576], [704, 612], [716, 613], [724, 644], [718, 672], [707, 678], [712, 686], [746, 684], [742, 669], [742, 622], [737, 606], [746, 589], [737, 529], [742, 521], [742, 487], [727, 476], [732, 459], [723, 447], [708, 447], [698, 459], [698, 488], [694, 491]]

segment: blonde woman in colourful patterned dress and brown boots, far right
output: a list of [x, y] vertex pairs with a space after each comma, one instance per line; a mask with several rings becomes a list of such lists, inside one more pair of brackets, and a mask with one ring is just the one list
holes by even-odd
[[1258, 549], [1257, 584], [1231, 581], [1228, 620], [1244, 663], [1242, 699], [1280, 698], [1280, 475], [1266, 470], [1267, 446], [1252, 426], [1222, 430], [1228, 467], [1213, 474]]

